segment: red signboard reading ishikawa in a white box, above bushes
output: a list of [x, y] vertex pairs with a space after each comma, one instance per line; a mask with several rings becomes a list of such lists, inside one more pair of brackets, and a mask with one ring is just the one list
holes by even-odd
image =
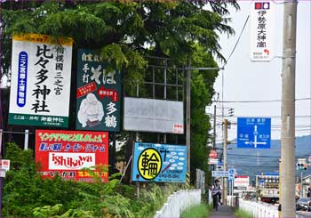
[[65, 180], [93, 182], [94, 174], [108, 182], [108, 133], [85, 131], [36, 130], [36, 163], [43, 178], [57, 174]]

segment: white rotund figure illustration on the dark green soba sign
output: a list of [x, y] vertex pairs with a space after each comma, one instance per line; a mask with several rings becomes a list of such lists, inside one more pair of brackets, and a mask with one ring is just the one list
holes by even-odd
[[82, 125], [90, 127], [100, 125], [100, 121], [104, 117], [104, 109], [100, 101], [97, 100], [95, 94], [88, 93], [86, 98], [81, 102], [77, 118]]

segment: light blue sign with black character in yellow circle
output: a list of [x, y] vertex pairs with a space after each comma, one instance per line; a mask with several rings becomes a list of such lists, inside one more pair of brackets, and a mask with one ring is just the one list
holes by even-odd
[[186, 182], [185, 145], [135, 142], [132, 181]]

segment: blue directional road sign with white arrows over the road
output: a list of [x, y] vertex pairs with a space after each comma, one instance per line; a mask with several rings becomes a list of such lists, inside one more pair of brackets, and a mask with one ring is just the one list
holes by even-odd
[[238, 117], [237, 148], [270, 149], [271, 118]]

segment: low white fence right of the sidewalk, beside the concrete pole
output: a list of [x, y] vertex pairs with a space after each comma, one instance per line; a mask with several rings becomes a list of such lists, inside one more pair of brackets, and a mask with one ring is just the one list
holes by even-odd
[[239, 208], [252, 215], [252, 217], [278, 217], [277, 206], [264, 202], [239, 199]]

